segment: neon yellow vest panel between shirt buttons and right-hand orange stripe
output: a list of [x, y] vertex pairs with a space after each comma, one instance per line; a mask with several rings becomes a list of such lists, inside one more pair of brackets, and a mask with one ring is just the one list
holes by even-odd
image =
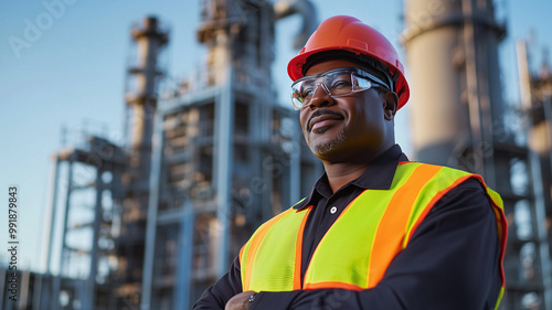
[[395, 191], [418, 165], [397, 167], [391, 190], [367, 190], [341, 212], [312, 254], [305, 274], [305, 288], [319, 288], [323, 282], [367, 288], [368, 266], [380, 220]]

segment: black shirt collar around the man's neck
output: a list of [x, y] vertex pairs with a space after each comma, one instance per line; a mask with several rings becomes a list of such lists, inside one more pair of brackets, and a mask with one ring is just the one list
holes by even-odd
[[[360, 175], [360, 178], [351, 181], [349, 184], [359, 186], [364, 190], [389, 190], [395, 175], [396, 165], [399, 162], [407, 161], [408, 158], [403, 153], [399, 145], [394, 145], [380, 157], [378, 157]], [[349, 185], [348, 184], [348, 185]], [[330, 184], [326, 172], [316, 181], [309, 195], [302, 201], [294, 205], [295, 210], [301, 210], [308, 205], [312, 205], [318, 195], [331, 195]]]

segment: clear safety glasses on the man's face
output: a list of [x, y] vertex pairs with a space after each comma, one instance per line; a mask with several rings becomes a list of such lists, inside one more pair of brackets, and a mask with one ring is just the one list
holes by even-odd
[[308, 75], [291, 84], [291, 103], [296, 110], [309, 105], [318, 87], [333, 97], [344, 97], [354, 93], [364, 92], [371, 87], [382, 87], [390, 90], [389, 86], [380, 78], [360, 68], [335, 68], [318, 75]]

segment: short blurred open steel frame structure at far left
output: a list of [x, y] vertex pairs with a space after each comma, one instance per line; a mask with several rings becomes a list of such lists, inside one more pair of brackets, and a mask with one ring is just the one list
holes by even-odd
[[[61, 296], [68, 307], [107, 309], [105, 282], [114, 255], [113, 224], [121, 202], [121, 173], [125, 154], [109, 141], [82, 132], [84, 140], [54, 154], [53, 205], [49, 216], [62, 227], [60, 258], [53, 259], [54, 243], [47, 249], [46, 275], [51, 276], [52, 296], [46, 308], [62, 309]], [[60, 172], [62, 171], [62, 172]], [[61, 196], [61, 197], [59, 197]], [[61, 222], [55, 222], [61, 214]], [[55, 229], [50, 229], [54, 239]], [[54, 267], [55, 266], [55, 267]], [[104, 298], [103, 298], [104, 297]], [[41, 306], [42, 307], [42, 306]]]

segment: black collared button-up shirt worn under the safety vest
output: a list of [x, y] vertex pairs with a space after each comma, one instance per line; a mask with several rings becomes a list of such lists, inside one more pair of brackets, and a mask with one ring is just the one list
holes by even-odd
[[[390, 189], [396, 165], [406, 160], [394, 146], [336, 193], [323, 174], [310, 194], [294, 206], [314, 206], [305, 225], [301, 279], [316, 246], [343, 209], [364, 190]], [[499, 256], [491, 205], [481, 184], [469, 179], [434, 205], [375, 288], [259, 292], [250, 309], [493, 309], [501, 286]], [[205, 290], [194, 309], [224, 309], [226, 301], [242, 291], [240, 270], [236, 258], [229, 274]]]

